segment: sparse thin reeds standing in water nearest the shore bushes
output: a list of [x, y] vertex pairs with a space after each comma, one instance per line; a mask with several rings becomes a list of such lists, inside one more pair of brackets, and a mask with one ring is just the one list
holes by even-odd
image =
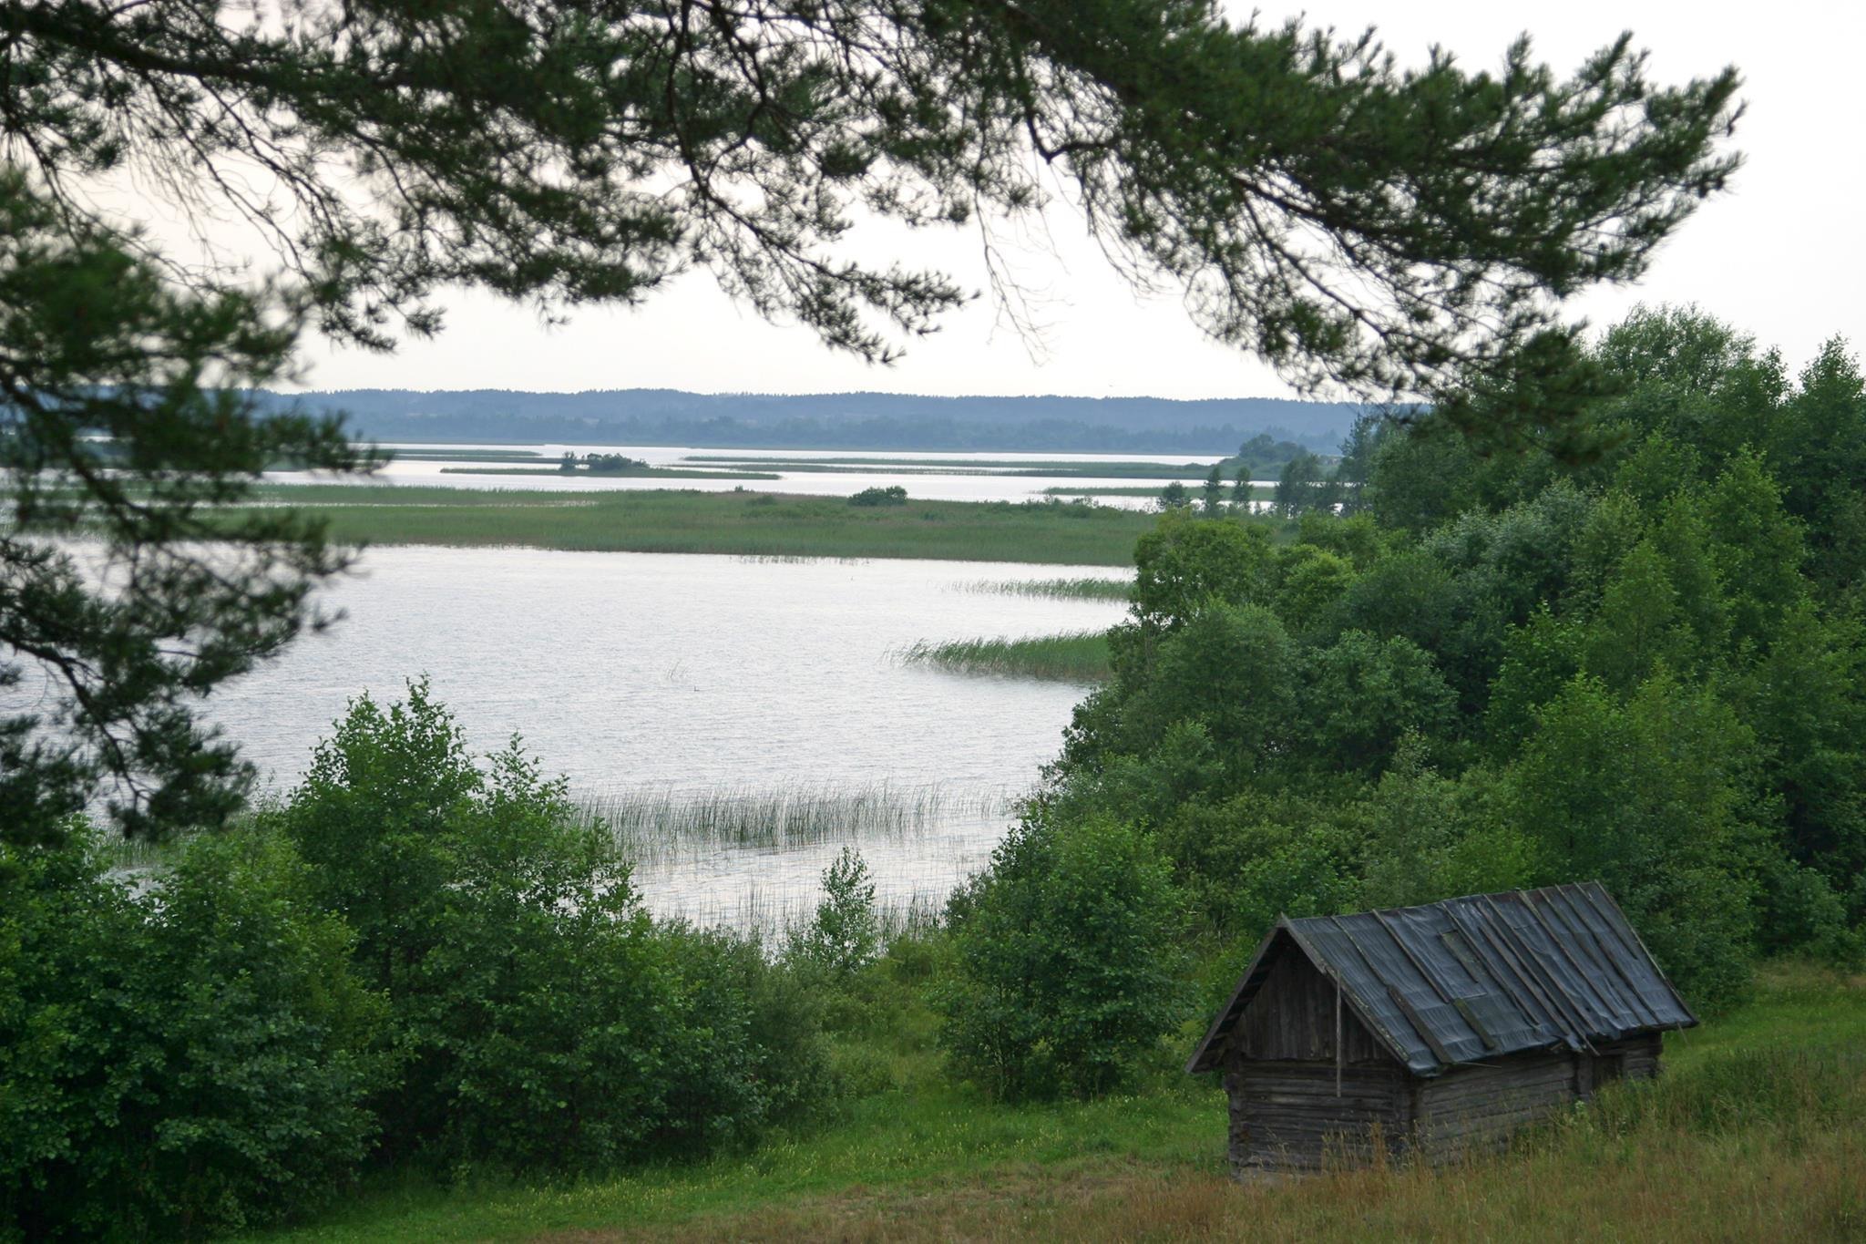
[[954, 793], [939, 785], [793, 785], [681, 791], [638, 787], [582, 802], [636, 864], [668, 865], [718, 850], [795, 850], [868, 841], [905, 841], [955, 821], [1010, 815], [996, 793]]

